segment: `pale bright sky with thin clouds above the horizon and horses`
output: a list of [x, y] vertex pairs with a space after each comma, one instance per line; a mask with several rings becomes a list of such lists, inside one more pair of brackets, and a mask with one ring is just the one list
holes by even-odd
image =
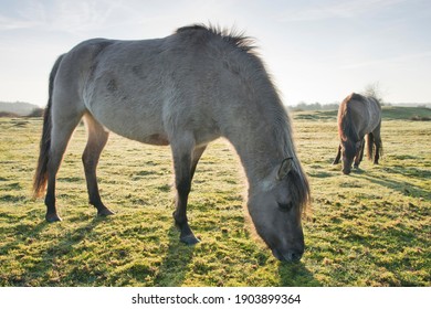
[[91, 38], [145, 40], [206, 23], [253, 36], [285, 105], [431, 103], [430, 0], [0, 0], [0, 100], [45, 106], [55, 58]]

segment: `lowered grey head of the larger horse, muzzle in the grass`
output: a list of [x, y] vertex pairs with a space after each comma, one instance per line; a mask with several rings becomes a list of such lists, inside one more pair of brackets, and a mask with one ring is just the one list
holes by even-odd
[[304, 253], [301, 217], [309, 199], [308, 190], [301, 168], [287, 158], [264, 185], [249, 195], [249, 212], [256, 232], [280, 260], [297, 262]]

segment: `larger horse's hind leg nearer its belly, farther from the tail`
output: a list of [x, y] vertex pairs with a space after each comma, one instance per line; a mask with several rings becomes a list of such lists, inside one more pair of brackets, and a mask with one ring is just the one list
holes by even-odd
[[88, 139], [82, 156], [82, 161], [84, 164], [85, 180], [88, 191], [88, 202], [97, 209], [97, 215], [112, 215], [114, 213], [109, 211], [102, 202], [96, 177], [98, 159], [101, 158], [102, 150], [107, 142], [109, 134], [105, 131], [103, 126], [97, 122], [90, 114], [86, 114], [84, 119], [87, 128]]

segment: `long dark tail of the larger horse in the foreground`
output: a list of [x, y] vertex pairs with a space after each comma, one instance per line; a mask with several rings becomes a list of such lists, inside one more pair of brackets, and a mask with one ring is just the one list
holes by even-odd
[[46, 187], [48, 181], [48, 162], [50, 160], [50, 148], [51, 148], [51, 106], [52, 106], [52, 94], [54, 90], [54, 79], [59, 71], [60, 63], [62, 62], [64, 54], [61, 55], [54, 66], [51, 70], [50, 74], [50, 85], [49, 85], [49, 98], [45, 111], [43, 114], [43, 129], [42, 137], [40, 142], [40, 152], [38, 167], [33, 180], [33, 195], [35, 198], [41, 196]]

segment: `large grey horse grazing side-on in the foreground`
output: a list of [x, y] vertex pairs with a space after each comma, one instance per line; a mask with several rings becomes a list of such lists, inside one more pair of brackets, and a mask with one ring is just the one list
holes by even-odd
[[60, 221], [55, 175], [80, 120], [87, 128], [83, 163], [90, 203], [111, 215], [96, 167], [108, 132], [171, 147], [180, 241], [195, 244], [187, 201], [207, 145], [219, 137], [236, 150], [249, 182], [248, 209], [280, 260], [304, 252], [301, 216], [309, 201], [291, 120], [251, 40], [190, 25], [155, 40], [85, 41], [55, 62], [43, 120], [34, 194], [46, 187], [46, 221]]

